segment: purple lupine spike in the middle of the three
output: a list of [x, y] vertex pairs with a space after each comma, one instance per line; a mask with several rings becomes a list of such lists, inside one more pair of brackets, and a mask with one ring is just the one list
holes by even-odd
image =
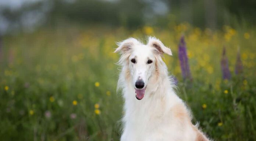
[[222, 78], [223, 79], [230, 79], [231, 73], [228, 68], [228, 57], [226, 56], [226, 49], [223, 48], [222, 58], [221, 58], [221, 70], [222, 70]]

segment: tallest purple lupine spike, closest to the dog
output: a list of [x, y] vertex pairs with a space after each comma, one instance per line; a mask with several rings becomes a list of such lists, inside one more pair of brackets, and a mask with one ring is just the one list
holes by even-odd
[[181, 40], [179, 42], [179, 62], [181, 65], [183, 79], [192, 79], [188, 64], [188, 56], [186, 53], [186, 43], [184, 36], [181, 36]]

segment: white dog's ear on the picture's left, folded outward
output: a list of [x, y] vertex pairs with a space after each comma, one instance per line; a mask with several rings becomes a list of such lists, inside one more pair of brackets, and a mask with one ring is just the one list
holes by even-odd
[[116, 42], [116, 44], [118, 45], [118, 48], [115, 49], [114, 52], [120, 52], [121, 54], [128, 52], [132, 49], [132, 47], [135, 44], [138, 44], [138, 43], [139, 43], [139, 41], [136, 40], [135, 38], [128, 38], [122, 42]]

